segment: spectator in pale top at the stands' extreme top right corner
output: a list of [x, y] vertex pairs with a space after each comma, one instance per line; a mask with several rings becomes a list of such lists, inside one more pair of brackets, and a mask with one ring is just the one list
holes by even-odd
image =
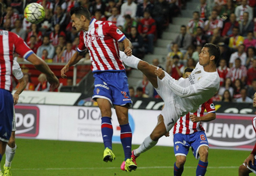
[[235, 14], [237, 16], [237, 21], [243, 21], [243, 13], [247, 11], [249, 14], [249, 21], [253, 18], [253, 10], [252, 8], [247, 4], [247, 0], [242, 0], [242, 4], [240, 6], [237, 6], [235, 9]]

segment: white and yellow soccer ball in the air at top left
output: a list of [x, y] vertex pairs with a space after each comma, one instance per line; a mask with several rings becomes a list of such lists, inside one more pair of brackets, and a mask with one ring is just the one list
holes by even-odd
[[32, 24], [39, 24], [45, 17], [45, 11], [40, 4], [30, 3], [24, 9], [24, 16]]

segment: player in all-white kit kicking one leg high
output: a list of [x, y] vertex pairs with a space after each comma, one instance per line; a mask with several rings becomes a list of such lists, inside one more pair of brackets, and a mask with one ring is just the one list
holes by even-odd
[[199, 63], [190, 77], [180, 78], [177, 81], [162, 69], [149, 65], [135, 56], [121, 55], [127, 66], [139, 69], [147, 76], [165, 102], [153, 132], [145, 138], [139, 148], [132, 151], [134, 161], [141, 153], [154, 147], [158, 139], [171, 130], [180, 116], [195, 112], [199, 105], [212, 98], [219, 89], [220, 79], [216, 69], [219, 56], [218, 46], [211, 43], [205, 44], [199, 54]]

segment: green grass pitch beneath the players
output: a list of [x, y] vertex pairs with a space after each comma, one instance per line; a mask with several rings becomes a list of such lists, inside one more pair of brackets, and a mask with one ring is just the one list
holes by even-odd
[[[11, 165], [13, 175], [173, 175], [173, 147], [156, 146], [137, 159], [136, 171], [120, 169], [121, 144], [113, 144], [116, 160], [103, 162], [103, 144], [56, 140], [16, 139], [17, 150]], [[137, 146], [133, 145], [133, 148]], [[250, 151], [210, 149], [206, 175], [238, 175], [238, 167]], [[2, 167], [5, 158], [2, 161]], [[194, 176], [197, 160], [189, 152], [184, 176]]]

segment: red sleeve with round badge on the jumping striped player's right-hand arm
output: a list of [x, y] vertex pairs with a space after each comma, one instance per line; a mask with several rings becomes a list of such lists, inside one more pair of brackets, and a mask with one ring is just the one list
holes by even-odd
[[118, 29], [117, 26], [113, 25], [110, 21], [106, 21], [106, 23], [104, 24], [104, 29], [110, 37], [117, 40], [118, 42], [122, 42], [126, 38], [123, 32]]

